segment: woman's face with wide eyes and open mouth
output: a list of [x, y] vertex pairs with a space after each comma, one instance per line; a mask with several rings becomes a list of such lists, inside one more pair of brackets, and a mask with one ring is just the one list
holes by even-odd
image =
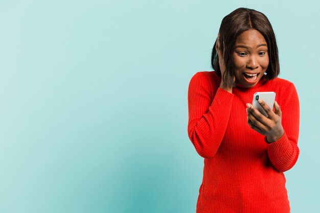
[[255, 86], [269, 65], [268, 46], [263, 35], [257, 30], [241, 33], [234, 46], [233, 58], [238, 85]]

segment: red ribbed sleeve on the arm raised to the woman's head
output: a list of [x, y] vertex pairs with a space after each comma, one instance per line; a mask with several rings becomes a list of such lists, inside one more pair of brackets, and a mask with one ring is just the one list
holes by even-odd
[[192, 77], [188, 89], [188, 136], [201, 157], [216, 154], [228, 124], [233, 96], [217, 89], [214, 81], [200, 72]]

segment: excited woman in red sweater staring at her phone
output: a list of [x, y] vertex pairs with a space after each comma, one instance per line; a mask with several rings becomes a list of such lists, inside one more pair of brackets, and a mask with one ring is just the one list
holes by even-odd
[[[285, 171], [299, 156], [299, 99], [279, 75], [275, 33], [261, 12], [225, 16], [212, 51], [214, 71], [189, 84], [188, 135], [204, 158], [197, 212], [289, 213]], [[255, 92], [274, 91], [274, 111], [253, 105]]]

